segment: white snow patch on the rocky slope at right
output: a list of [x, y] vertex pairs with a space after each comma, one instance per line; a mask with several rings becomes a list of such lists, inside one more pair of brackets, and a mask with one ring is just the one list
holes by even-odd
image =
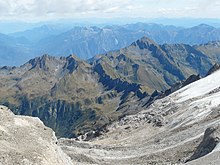
[[220, 70], [185, 86], [170, 97], [177, 104], [188, 104], [185, 112], [177, 117], [186, 125], [201, 121], [220, 105]]

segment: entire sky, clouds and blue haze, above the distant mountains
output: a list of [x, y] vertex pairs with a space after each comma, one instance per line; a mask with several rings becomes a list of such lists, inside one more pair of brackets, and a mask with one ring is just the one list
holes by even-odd
[[218, 0], [0, 0], [0, 33], [24, 31], [44, 24], [104, 26], [159, 23], [220, 27]]

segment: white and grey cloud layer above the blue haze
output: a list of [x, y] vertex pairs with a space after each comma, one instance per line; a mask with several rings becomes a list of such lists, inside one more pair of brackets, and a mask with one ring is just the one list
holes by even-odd
[[219, 0], [0, 0], [1, 20], [219, 18]]

